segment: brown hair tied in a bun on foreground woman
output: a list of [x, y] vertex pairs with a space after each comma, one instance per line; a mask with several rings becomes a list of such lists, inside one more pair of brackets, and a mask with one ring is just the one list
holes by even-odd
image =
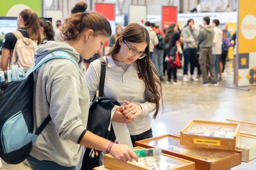
[[61, 34], [63, 40], [76, 39], [82, 31], [92, 29], [94, 35], [111, 36], [111, 26], [107, 18], [101, 13], [89, 11], [87, 3], [81, 1], [75, 4], [71, 10], [71, 15], [64, 19]]

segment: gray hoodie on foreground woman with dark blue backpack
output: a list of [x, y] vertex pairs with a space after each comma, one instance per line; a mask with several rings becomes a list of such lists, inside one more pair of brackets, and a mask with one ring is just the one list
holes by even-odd
[[[63, 50], [76, 63], [79, 53], [67, 43], [49, 41], [38, 46], [35, 62]], [[79, 137], [85, 131], [89, 111], [89, 89], [82, 73], [67, 59], [52, 59], [36, 71], [34, 81], [34, 132], [50, 114], [52, 120], [38, 136], [30, 155], [39, 160], [75, 166], [81, 154]]]

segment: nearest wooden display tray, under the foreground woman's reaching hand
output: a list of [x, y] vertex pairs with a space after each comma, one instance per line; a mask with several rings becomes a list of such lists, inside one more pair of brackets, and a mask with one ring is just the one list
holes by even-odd
[[[133, 149], [145, 149], [142, 147], [135, 147]], [[163, 166], [160, 165], [161, 170], [194, 170], [195, 169], [195, 163], [189, 160], [185, 160], [185, 159], [181, 159], [181, 158], [177, 158], [177, 157], [173, 157], [170, 155], [166, 155], [166, 154], [162, 154], [161, 155], [161, 160], [163, 159], [163, 157], [170, 159], [168, 160], [170, 164], [172, 165], [178, 165], [178, 167], [176, 168], [165, 168], [163, 166], [166, 166], [166, 162], [164, 162], [165, 164], [162, 164]], [[159, 157], [159, 156], [157, 156]], [[139, 158], [139, 159], [151, 159], [154, 157], [144, 157], [144, 158]], [[164, 160], [162, 160], [164, 161]], [[116, 161], [110, 154], [106, 154], [104, 157], [104, 167], [110, 170], [152, 170], [152, 168], [147, 168], [145, 166], [141, 166], [141, 165], [136, 165], [135, 163], [119, 163], [118, 161]], [[157, 169], [155, 169], [157, 170]]]

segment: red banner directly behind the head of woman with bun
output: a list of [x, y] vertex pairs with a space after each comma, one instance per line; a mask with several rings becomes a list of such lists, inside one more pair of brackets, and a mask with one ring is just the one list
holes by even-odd
[[114, 4], [95, 3], [95, 11], [103, 14], [110, 21], [115, 20], [115, 5]]

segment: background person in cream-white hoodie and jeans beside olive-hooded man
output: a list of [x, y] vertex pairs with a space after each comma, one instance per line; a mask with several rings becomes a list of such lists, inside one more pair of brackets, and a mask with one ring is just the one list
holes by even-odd
[[222, 69], [223, 69], [222, 60], [221, 60], [222, 31], [218, 27], [219, 26], [219, 20], [213, 20], [212, 26], [213, 26], [213, 30], [215, 32], [214, 38], [213, 38], [213, 50], [212, 50], [213, 68], [214, 68], [216, 78], [218, 78], [218, 73], [219, 73], [218, 81], [221, 81], [222, 80]]

